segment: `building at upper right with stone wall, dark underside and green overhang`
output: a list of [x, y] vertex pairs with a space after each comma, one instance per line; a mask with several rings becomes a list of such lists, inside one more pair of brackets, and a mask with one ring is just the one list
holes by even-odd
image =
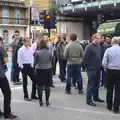
[[[92, 34], [97, 32], [98, 26], [102, 23], [120, 19], [119, 11], [120, 0], [71, 0], [70, 4], [65, 3], [60, 6], [58, 34], [65, 32], [69, 35], [74, 32], [80, 39], [91, 39]], [[111, 27], [107, 26], [106, 34], [112, 32], [109, 30], [115, 29], [115, 26]]]

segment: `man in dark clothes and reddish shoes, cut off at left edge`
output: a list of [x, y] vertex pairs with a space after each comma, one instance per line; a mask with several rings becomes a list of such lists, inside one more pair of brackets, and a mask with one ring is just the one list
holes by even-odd
[[[2, 37], [0, 37], [0, 42], [3, 43]], [[4, 95], [4, 118], [6, 119], [14, 119], [17, 116], [11, 114], [11, 90], [8, 83], [8, 79], [5, 75], [5, 67], [4, 64], [8, 62], [8, 55], [3, 47], [3, 45], [0, 45], [0, 88]], [[0, 111], [0, 116], [2, 116], [3, 113]]]

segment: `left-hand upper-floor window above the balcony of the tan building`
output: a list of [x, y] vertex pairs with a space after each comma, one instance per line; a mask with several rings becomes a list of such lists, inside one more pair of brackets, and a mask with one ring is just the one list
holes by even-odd
[[2, 8], [2, 23], [9, 24], [9, 8], [3, 7]]

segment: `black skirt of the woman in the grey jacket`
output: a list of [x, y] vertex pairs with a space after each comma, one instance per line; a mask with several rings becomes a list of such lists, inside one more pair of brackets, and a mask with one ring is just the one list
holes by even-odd
[[36, 69], [36, 83], [39, 86], [50, 86], [52, 82], [52, 68]]

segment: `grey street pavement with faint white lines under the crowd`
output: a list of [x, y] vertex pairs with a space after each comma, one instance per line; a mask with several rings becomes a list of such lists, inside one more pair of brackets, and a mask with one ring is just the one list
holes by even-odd
[[[58, 79], [59, 70], [53, 77], [55, 88], [51, 89], [49, 107], [39, 106], [38, 100], [27, 102], [23, 99], [22, 85], [13, 85], [10, 81], [9, 71], [6, 73], [12, 91], [11, 108], [13, 113], [18, 115], [16, 120], [120, 120], [120, 114], [114, 114], [108, 111], [106, 103], [96, 103], [96, 107], [86, 104], [86, 84], [87, 75], [82, 73], [84, 79], [84, 94], [78, 94], [78, 91], [72, 88], [72, 94], [65, 94], [65, 83]], [[31, 93], [31, 81], [28, 80], [28, 91]], [[100, 88], [100, 98], [105, 100], [106, 90]], [[45, 102], [45, 98], [44, 98]], [[0, 108], [3, 104], [3, 95], [0, 92]], [[4, 118], [0, 118], [4, 120]]]

